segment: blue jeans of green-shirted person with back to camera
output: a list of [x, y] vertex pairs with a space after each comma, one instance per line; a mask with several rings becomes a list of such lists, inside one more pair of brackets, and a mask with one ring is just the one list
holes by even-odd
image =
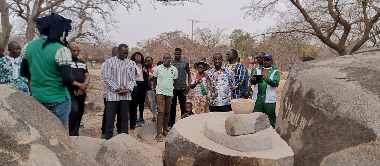
[[71, 111], [71, 101], [65, 97], [65, 101], [57, 103], [41, 103], [62, 122], [63, 128], [67, 128], [67, 122]]

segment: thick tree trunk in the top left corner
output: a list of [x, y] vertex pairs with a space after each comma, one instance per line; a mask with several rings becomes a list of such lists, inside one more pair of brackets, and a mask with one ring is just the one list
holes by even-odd
[[1, 35], [0, 35], [0, 44], [3, 45], [3, 48], [6, 48], [6, 45], [9, 41], [9, 36], [11, 35], [12, 25], [9, 23], [9, 8], [6, 0], [0, 0], [0, 14], [1, 14]]

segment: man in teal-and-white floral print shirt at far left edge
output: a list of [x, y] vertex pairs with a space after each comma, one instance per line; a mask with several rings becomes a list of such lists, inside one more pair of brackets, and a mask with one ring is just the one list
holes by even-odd
[[21, 46], [16, 41], [8, 44], [9, 55], [0, 58], [0, 84], [13, 86], [30, 95], [28, 78], [21, 77]]

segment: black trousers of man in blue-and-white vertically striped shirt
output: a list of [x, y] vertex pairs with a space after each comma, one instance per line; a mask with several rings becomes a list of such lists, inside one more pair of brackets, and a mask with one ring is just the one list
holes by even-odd
[[115, 116], [120, 118], [117, 134], [128, 134], [128, 112], [130, 100], [108, 101], [106, 109], [105, 139], [111, 139], [114, 134]]

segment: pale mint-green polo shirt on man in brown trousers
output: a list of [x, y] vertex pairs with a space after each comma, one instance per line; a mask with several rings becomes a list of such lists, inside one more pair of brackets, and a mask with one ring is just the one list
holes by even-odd
[[161, 64], [157, 66], [153, 72], [153, 76], [157, 78], [156, 94], [173, 97], [174, 79], [178, 78], [178, 70], [173, 65], [166, 68]]

